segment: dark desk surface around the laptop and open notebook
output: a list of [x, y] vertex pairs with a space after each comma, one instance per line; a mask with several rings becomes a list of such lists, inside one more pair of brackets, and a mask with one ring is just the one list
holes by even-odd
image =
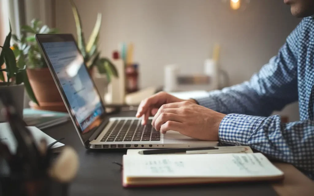
[[[136, 112], [129, 111], [114, 116], [134, 116]], [[114, 117], [112, 116], [112, 117]], [[73, 196], [274, 196], [277, 193], [269, 182], [206, 184], [196, 186], [131, 188], [122, 187], [121, 167], [112, 162], [122, 163], [126, 150], [86, 150], [71, 122], [45, 130], [53, 138], [62, 138], [62, 143], [73, 146], [80, 156], [80, 169], [76, 179], [71, 183], [69, 195]], [[210, 167], [210, 163], [208, 163]]]

